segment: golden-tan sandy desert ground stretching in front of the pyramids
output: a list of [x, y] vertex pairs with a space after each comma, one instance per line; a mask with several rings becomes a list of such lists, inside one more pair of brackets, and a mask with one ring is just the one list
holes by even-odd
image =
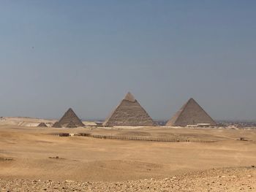
[[[216, 142], [143, 142], [53, 135], [60, 132], [173, 137]], [[240, 137], [249, 141], [237, 140]], [[56, 156], [59, 158], [50, 158]], [[227, 186], [230, 191], [239, 191], [240, 188], [244, 188], [242, 191], [256, 191], [255, 169], [241, 168], [251, 167], [255, 162], [256, 130], [164, 127], [91, 130], [0, 126], [2, 191], [15, 191], [15, 188], [16, 191], [23, 190], [18, 190], [18, 187], [12, 188], [11, 183], [27, 185], [24, 191], [29, 191], [30, 187], [33, 191], [32, 186], [37, 189], [34, 191], [43, 190], [45, 186], [50, 186], [46, 188], [48, 191], [171, 191], [172, 186], [173, 191], [181, 191], [181, 188], [174, 188], [175, 185], [181, 186], [181, 183], [195, 185], [190, 191], [228, 191], [225, 190], [226, 185], [230, 185]], [[225, 167], [234, 167], [228, 171], [231, 175], [225, 171], [226, 169], [222, 169]], [[34, 180], [36, 182], [30, 185]], [[37, 182], [38, 180], [40, 182]], [[218, 182], [222, 185], [217, 185]], [[60, 188], [60, 185], [64, 188]], [[70, 185], [70, 188], [67, 185]], [[154, 185], [158, 187], [154, 189]], [[213, 187], [211, 189], [206, 186]], [[232, 189], [233, 186], [236, 188]], [[111, 188], [113, 190], [110, 190]], [[188, 191], [189, 188], [182, 190]]]

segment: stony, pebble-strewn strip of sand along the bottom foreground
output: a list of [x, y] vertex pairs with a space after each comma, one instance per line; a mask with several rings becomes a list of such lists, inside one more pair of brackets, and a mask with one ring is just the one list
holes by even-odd
[[256, 169], [210, 169], [163, 180], [75, 182], [72, 180], [0, 180], [1, 191], [256, 191]]

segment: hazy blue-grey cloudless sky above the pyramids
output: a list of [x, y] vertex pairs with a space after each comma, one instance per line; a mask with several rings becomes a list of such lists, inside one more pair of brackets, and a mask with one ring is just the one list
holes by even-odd
[[256, 1], [0, 1], [0, 116], [104, 119], [130, 91], [155, 120], [194, 98], [256, 120]]

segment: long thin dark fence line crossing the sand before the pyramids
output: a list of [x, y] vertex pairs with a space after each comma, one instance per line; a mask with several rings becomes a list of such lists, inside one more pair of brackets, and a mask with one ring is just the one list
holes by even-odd
[[126, 136], [110, 136], [110, 135], [97, 135], [97, 134], [79, 134], [79, 135], [83, 137], [93, 137], [97, 139], [135, 140], [135, 141], [148, 141], [148, 142], [201, 142], [201, 143], [216, 142], [216, 141], [206, 141], [206, 140], [173, 139], [173, 138], [157, 138], [157, 137], [126, 137]]

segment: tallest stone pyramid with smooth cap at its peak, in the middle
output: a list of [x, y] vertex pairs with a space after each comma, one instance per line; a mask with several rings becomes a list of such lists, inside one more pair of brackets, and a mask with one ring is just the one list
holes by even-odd
[[127, 93], [103, 126], [155, 126], [155, 123], [135, 97]]

